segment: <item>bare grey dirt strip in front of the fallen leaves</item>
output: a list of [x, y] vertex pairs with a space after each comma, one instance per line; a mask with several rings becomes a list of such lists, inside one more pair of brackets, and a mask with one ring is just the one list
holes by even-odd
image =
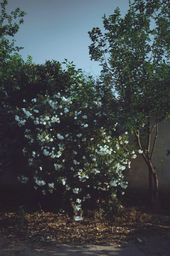
[[[156, 240], [154, 240], [156, 239]], [[103, 255], [161, 255], [170, 254], [170, 237], [155, 237], [154, 239], [142, 237], [143, 242], [129, 241], [128, 243], [102, 243], [100, 245], [90, 244], [45, 244], [25, 241], [13, 241], [0, 238], [0, 256], [26, 255], [26, 256], [103, 256]]]

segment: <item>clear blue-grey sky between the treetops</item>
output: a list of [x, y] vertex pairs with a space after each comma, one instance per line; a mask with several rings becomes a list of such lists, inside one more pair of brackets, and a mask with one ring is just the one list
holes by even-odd
[[[2, 2], [2, 0], [0, 1]], [[117, 6], [124, 17], [129, 9], [128, 0], [8, 0], [6, 12], [20, 8], [27, 14], [23, 17], [15, 39], [24, 61], [27, 55], [33, 57], [35, 64], [44, 64], [45, 60], [64, 62], [64, 58], [73, 61], [76, 70], [82, 68], [86, 73], [100, 75], [99, 62], [90, 60], [88, 46], [92, 43], [88, 31], [99, 27], [102, 32], [103, 15], [106, 18], [114, 14]], [[132, 0], [131, 3], [134, 1]], [[19, 24], [20, 18], [12, 24]], [[7, 23], [6, 23], [7, 24]], [[5, 23], [4, 23], [5, 25]], [[63, 69], [65, 64], [62, 64]], [[91, 71], [92, 69], [92, 71]], [[94, 75], [93, 75], [94, 77]]]

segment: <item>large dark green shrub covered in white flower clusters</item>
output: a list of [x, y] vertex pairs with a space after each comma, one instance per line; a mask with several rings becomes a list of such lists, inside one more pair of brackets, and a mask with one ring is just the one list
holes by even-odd
[[30, 103], [23, 99], [25, 108], [17, 110], [15, 120], [26, 127], [29, 146], [23, 154], [29, 155], [35, 189], [53, 193], [62, 184], [64, 196], [79, 211], [91, 197], [89, 187], [108, 191], [112, 198], [118, 186], [127, 187], [122, 172], [130, 170], [128, 157], [135, 158], [135, 151], [127, 145], [128, 132], [119, 136], [116, 131], [118, 123], [107, 112], [107, 93], [98, 95], [82, 78], [75, 82], [51, 97], [38, 95]]

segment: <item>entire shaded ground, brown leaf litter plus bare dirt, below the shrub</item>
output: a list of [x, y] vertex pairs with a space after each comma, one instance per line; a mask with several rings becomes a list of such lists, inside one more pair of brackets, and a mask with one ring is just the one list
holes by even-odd
[[[3, 197], [0, 256], [169, 254], [169, 208], [151, 209], [143, 204], [146, 196], [139, 200], [139, 195], [134, 195], [135, 192], [121, 201], [122, 208], [115, 215], [105, 217], [106, 212], [98, 207], [84, 212], [78, 221], [66, 211], [52, 211], [40, 205], [36, 211], [29, 205], [19, 208], [14, 193], [12, 199]], [[167, 196], [164, 202], [169, 205]]]

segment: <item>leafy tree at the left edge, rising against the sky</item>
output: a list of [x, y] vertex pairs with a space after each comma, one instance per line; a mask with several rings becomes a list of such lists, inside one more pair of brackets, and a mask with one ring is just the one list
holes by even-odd
[[[19, 30], [18, 24], [14, 23], [14, 25], [12, 25], [12, 18], [23, 17], [26, 13], [20, 11], [20, 8], [17, 8], [15, 11], [11, 12], [11, 15], [7, 15], [5, 12], [7, 1], [4, 0], [3, 3], [0, 4], [2, 13], [2, 15], [0, 15], [0, 175], [2, 175], [10, 164], [12, 164], [14, 168], [17, 159], [19, 161], [19, 158], [22, 157], [22, 155], [20, 155], [22, 141], [19, 134], [17, 134], [17, 126], [12, 120], [13, 115], [8, 113], [7, 106], [4, 106], [4, 101], [8, 93], [8, 86], [6, 89], [4, 88], [4, 80], [6, 76], [11, 77], [13, 70], [24, 62], [21, 59], [21, 55], [18, 53], [11, 55], [13, 51], [19, 52], [23, 47], [14, 47], [15, 40], [9, 43], [6, 36], [14, 37]], [[4, 25], [6, 19], [8, 20], [8, 25]], [[20, 19], [19, 23], [23, 23], [23, 19]]]

